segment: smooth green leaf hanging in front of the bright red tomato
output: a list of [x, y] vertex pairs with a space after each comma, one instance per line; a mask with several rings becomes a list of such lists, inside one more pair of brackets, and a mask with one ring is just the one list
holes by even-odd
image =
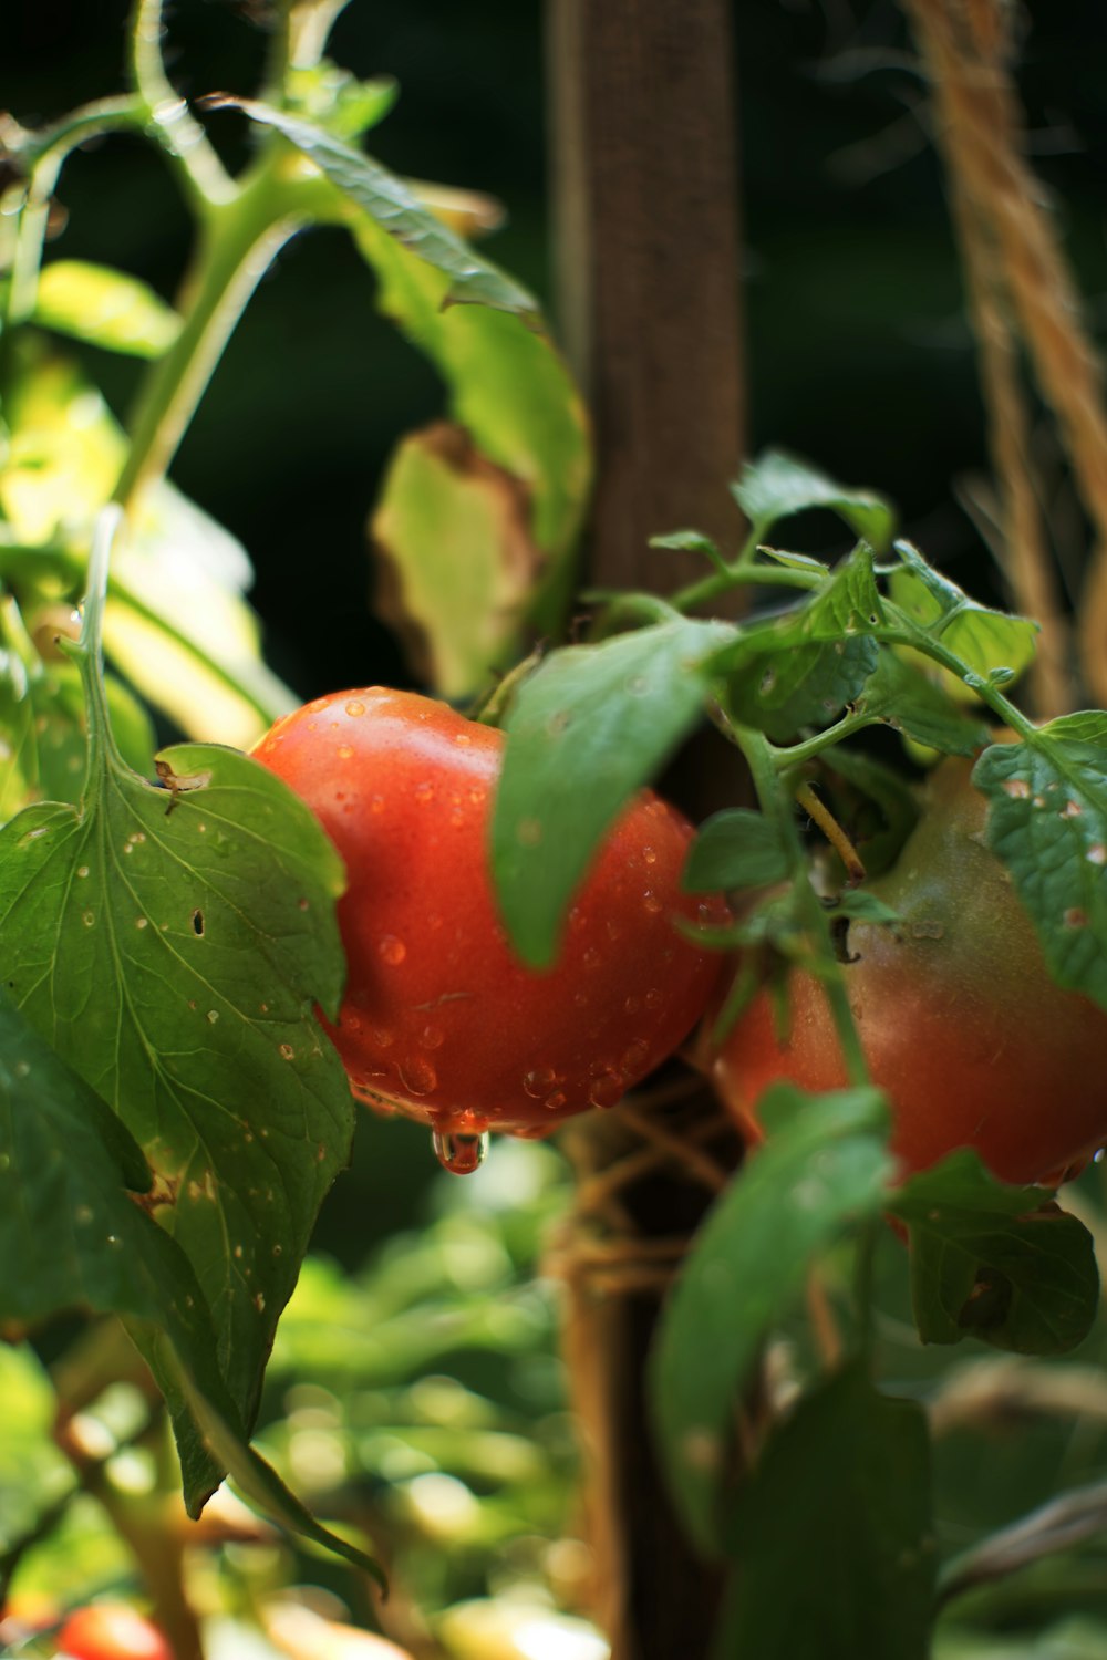
[[508, 710], [493, 873], [508, 933], [534, 968], [619, 810], [700, 719], [705, 664], [734, 629], [675, 618], [553, 652]]

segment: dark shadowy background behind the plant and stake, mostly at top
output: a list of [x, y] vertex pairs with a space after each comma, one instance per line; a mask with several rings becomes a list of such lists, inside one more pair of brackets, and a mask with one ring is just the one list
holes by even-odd
[[[254, 90], [264, 55], [259, 10], [178, 0], [168, 56], [181, 91]], [[0, 108], [35, 123], [119, 90], [124, 15], [121, 0], [8, 3]], [[845, 481], [886, 491], [908, 535], [979, 591], [989, 561], [958, 505], [958, 481], [984, 465], [973, 340], [898, 7], [740, 0], [734, 22], [750, 450], [783, 445]], [[1022, 27], [1034, 163], [1099, 332], [1107, 315], [1107, 15], [1100, 5], [1054, 0], [1024, 10]], [[397, 171], [501, 198], [510, 221], [486, 247], [556, 314], [541, 7], [352, 0], [332, 56], [358, 75], [397, 76], [402, 96], [370, 134], [372, 151]], [[236, 116], [212, 116], [211, 131], [231, 159], [244, 159]], [[719, 133], [720, 144], [734, 141]], [[60, 196], [68, 226], [56, 254], [118, 264], [173, 295], [191, 227], [153, 149], [111, 139], [81, 151]], [[136, 365], [95, 350], [86, 360], [123, 415]], [[377, 315], [372, 279], [345, 236], [297, 239], [246, 312], [174, 476], [249, 548], [269, 656], [304, 697], [405, 676], [370, 613], [365, 516], [395, 438], [440, 408], [435, 374]], [[1082, 523], [1044, 428], [1042, 440], [1056, 540], [1075, 571]], [[422, 1135], [395, 1125], [363, 1134], [358, 1160], [375, 1160], [383, 1135], [390, 1179], [375, 1195], [373, 1232], [410, 1215], [410, 1189], [397, 1180], [400, 1149], [413, 1175], [430, 1169]], [[347, 1220], [340, 1204], [329, 1207], [324, 1237], [337, 1238]]]

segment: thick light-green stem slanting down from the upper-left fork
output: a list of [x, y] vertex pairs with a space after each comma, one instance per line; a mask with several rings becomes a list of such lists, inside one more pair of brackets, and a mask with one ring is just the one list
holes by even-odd
[[113, 496], [128, 511], [143, 488], [168, 471], [251, 294], [297, 231], [294, 186], [269, 154], [234, 201], [211, 209], [184, 284], [181, 332], [153, 365], [131, 422], [129, 453]]

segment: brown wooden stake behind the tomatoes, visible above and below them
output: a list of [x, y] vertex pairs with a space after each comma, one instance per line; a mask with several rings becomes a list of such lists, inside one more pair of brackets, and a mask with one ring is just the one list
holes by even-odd
[[[599, 460], [588, 578], [671, 591], [704, 566], [651, 551], [652, 535], [694, 526], [734, 548], [742, 530], [727, 493], [744, 453], [730, 7], [548, 0], [548, 45], [561, 339], [593, 410]], [[717, 760], [705, 752], [704, 769]], [[682, 775], [679, 788], [702, 802], [704, 782]], [[709, 1152], [714, 1135], [719, 1160], [734, 1160], [734, 1142], [712, 1129], [712, 1102], [692, 1097], [677, 1111], [662, 1135]], [[581, 1195], [604, 1192], [619, 1160], [642, 1155], [617, 1114], [593, 1114], [566, 1145]], [[566, 1348], [589, 1477], [596, 1612], [612, 1660], [702, 1660], [710, 1643], [719, 1580], [669, 1507], [642, 1381], [666, 1240], [692, 1232], [710, 1197], [694, 1160], [654, 1157], [641, 1180], [578, 1217], [578, 1243], [581, 1227], [588, 1240], [599, 1222], [627, 1245], [634, 1273], [622, 1295], [604, 1291], [579, 1267], [588, 1252], [574, 1258], [568, 1242]]]

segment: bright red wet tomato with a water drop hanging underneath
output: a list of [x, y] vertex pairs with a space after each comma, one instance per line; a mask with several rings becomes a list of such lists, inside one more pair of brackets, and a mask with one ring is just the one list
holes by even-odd
[[349, 978], [329, 1031], [354, 1092], [440, 1134], [541, 1135], [614, 1106], [685, 1038], [720, 971], [674, 928], [699, 915], [679, 890], [692, 828], [651, 792], [599, 850], [558, 963], [519, 961], [488, 868], [503, 744], [445, 704], [367, 689], [315, 699], [254, 750], [347, 865]]

